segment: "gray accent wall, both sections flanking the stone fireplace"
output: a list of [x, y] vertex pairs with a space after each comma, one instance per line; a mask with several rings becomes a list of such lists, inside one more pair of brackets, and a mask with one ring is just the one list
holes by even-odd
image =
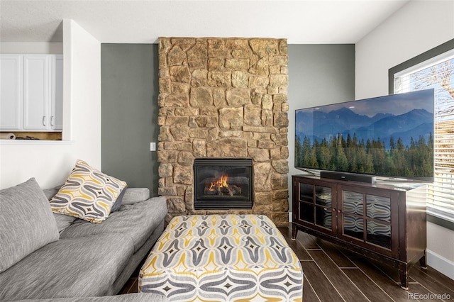
[[[355, 99], [355, 45], [288, 45], [289, 193], [294, 111]], [[157, 44], [101, 44], [102, 170], [157, 196]], [[292, 211], [292, 196], [290, 210]]]

